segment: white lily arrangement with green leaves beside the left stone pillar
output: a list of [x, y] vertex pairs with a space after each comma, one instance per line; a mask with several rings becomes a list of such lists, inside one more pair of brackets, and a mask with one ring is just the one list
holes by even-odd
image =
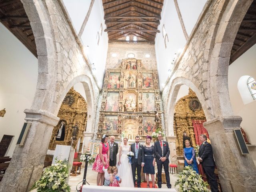
[[56, 163], [46, 168], [41, 178], [33, 185], [37, 192], [70, 192], [71, 188], [67, 184], [69, 175], [68, 165], [63, 160], [55, 159]]

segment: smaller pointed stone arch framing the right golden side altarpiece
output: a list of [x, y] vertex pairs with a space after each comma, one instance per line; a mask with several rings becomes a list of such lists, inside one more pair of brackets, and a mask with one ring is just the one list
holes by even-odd
[[178, 95], [178, 92], [180, 90], [181, 85], [186, 85], [190, 87], [198, 97], [200, 103], [202, 104], [202, 108], [204, 110], [206, 119], [211, 119], [212, 115], [209, 113], [209, 107], [207, 106], [204, 96], [201, 94], [200, 90], [187, 78], [184, 77], [176, 77], [174, 80], [172, 80], [170, 90], [168, 93], [168, 100], [167, 100], [167, 107], [164, 109], [166, 118], [166, 136], [174, 136], [174, 128], [173, 128], [173, 120], [174, 120], [174, 107], [176, 104], [176, 98]]

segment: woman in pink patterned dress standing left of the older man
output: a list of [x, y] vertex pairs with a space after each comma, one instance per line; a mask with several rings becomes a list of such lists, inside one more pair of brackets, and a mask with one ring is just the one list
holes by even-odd
[[104, 172], [102, 168], [108, 168], [109, 166], [109, 146], [108, 146], [108, 135], [104, 134], [102, 136], [100, 146], [99, 146], [99, 154], [96, 156], [94, 164], [92, 166], [92, 170], [98, 172], [97, 175], [97, 185], [104, 184]]

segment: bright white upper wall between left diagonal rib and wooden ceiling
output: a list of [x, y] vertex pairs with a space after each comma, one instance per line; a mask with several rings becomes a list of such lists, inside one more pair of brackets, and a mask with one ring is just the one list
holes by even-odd
[[[100, 33], [100, 24], [102, 24], [103, 32], [100, 36], [100, 42], [97, 44], [97, 32]], [[108, 52], [108, 34], [104, 32], [106, 29], [104, 20], [104, 11], [101, 0], [95, 0], [92, 12], [82, 34], [82, 41], [86, 47], [86, 54], [91, 63], [94, 63], [96, 71], [95, 76], [99, 86], [102, 86], [103, 74], [106, 65]], [[89, 47], [87, 47], [89, 46]]]

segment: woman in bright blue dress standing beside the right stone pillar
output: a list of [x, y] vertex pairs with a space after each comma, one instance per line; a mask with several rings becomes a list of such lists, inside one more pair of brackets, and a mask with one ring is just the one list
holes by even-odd
[[196, 152], [193, 147], [190, 145], [190, 141], [185, 141], [185, 148], [183, 149], [183, 155], [184, 155], [184, 163], [185, 166], [192, 166], [192, 168], [198, 173], [198, 168], [196, 164]]

